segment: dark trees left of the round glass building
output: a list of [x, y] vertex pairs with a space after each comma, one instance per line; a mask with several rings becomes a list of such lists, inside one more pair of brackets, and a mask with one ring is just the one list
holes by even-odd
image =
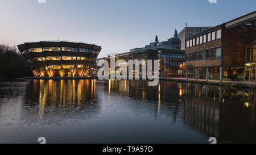
[[0, 81], [32, 76], [26, 60], [16, 47], [0, 44]]

